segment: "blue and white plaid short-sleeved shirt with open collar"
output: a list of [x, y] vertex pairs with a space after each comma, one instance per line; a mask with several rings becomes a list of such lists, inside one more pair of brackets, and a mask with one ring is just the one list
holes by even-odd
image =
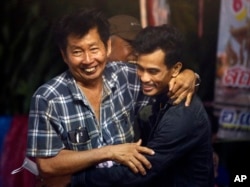
[[135, 114], [149, 101], [140, 91], [136, 66], [108, 63], [103, 82], [100, 122], [69, 71], [38, 88], [31, 100], [27, 156], [133, 142]]

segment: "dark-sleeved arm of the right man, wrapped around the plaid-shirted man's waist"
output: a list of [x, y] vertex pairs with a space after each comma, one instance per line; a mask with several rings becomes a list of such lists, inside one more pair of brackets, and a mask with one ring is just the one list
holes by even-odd
[[[73, 186], [85, 184], [91, 187], [104, 187], [121, 186], [123, 184], [131, 187], [137, 184], [145, 184], [163, 170], [167, 170], [176, 160], [199, 142], [200, 135], [195, 136], [192, 134], [194, 129], [192, 115], [186, 113], [187, 108], [183, 106], [182, 108], [184, 109], [181, 114], [174, 111], [166, 113], [165, 116], [167, 117], [158, 124], [159, 128], [155, 130], [152, 139], [149, 140], [147, 146], [155, 151], [155, 155], [146, 156], [152, 164], [152, 168], [147, 171], [145, 176], [134, 174], [124, 166], [91, 169], [74, 176], [72, 180]], [[198, 130], [195, 132], [199, 133]]]

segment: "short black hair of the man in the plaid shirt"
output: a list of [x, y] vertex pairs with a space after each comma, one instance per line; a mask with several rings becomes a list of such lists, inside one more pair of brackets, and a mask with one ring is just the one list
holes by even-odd
[[110, 37], [109, 22], [98, 9], [79, 9], [60, 18], [53, 27], [54, 39], [60, 49], [65, 51], [67, 37], [83, 37], [90, 29], [97, 28], [105, 46]]

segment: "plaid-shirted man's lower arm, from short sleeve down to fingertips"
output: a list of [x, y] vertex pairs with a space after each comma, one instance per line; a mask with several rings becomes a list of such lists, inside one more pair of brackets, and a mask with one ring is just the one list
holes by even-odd
[[49, 101], [41, 95], [34, 96], [29, 115], [27, 156], [37, 158], [43, 177], [72, 174], [106, 160], [125, 164], [134, 172], [144, 172], [143, 166], [150, 167], [141, 153], [151, 154], [152, 150], [141, 147], [140, 142], [86, 151], [69, 150], [73, 147], [69, 144], [68, 129], [58, 116], [58, 111], [67, 107], [66, 102], [53, 105]]

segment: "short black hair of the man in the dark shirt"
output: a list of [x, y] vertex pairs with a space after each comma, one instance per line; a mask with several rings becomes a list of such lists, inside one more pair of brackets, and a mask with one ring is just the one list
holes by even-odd
[[165, 64], [171, 68], [177, 62], [182, 62], [183, 39], [183, 35], [175, 27], [163, 24], [144, 28], [132, 45], [138, 55], [163, 50]]

